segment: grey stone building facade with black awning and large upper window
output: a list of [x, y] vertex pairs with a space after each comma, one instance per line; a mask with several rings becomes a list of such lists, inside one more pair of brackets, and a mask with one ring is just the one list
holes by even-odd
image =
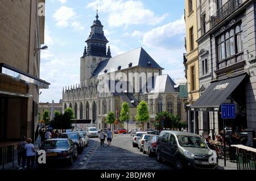
[[[255, 130], [255, 2], [197, 1], [197, 25], [201, 96], [192, 108], [199, 129]], [[235, 104], [236, 118], [223, 122], [225, 103]]]

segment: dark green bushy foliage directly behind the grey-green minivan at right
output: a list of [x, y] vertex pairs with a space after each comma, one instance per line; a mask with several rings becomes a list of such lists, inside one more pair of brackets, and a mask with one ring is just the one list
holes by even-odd
[[155, 120], [156, 120], [155, 126], [158, 129], [180, 127], [180, 117], [177, 115], [174, 116], [167, 111], [157, 113], [155, 116]]

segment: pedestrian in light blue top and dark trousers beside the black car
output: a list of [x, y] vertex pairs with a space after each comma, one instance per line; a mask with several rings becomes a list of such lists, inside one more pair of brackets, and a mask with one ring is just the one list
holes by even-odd
[[[35, 162], [35, 146], [31, 143], [32, 139], [27, 138], [26, 148], [26, 158], [27, 158], [27, 170], [32, 170]], [[30, 165], [31, 164], [31, 165]]]

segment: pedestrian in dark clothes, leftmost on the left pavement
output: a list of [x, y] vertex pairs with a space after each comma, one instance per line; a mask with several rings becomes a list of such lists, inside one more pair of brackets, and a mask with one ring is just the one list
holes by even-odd
[[[17, 153], [18, 153], [18, 169], [24, 169], [26, 163], [26, 148], [27, 138], [25, 136], [22, 137], [21, 141], [17, 145]], [[22, 162], [22, 167], [20, 167], [20, 161]]]

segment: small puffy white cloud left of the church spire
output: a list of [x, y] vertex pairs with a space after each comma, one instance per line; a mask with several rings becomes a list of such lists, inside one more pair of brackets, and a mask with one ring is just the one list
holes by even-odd
[[74, 9], [61, 6], [53, 15], [52, 18], [57, 21], [57, 27], [68, 27], [69, 21], [77, 16]]

